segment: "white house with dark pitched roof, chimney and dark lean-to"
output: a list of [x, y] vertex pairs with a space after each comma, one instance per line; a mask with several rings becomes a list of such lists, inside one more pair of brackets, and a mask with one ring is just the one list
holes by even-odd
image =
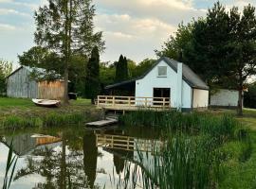
[[126, 89], [135, 99], [166, 97], [170, 99], [171, 108], [185, 112], [209, 106], [207, 84], [186, 64], [166, 57], [157, 60], [143, 76], [109, 85], [106, 89]]

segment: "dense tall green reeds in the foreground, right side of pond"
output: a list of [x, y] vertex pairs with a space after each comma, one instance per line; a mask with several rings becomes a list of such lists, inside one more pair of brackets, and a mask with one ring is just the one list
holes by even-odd
[[137, 163], [126, 163], [124, 179], [119, 180], [117, 188], [215, 188], [220, 157], [214, 143], [208, 137], [180, 135], [170, 138], [161, 150], [146, 154], [137, 151]]

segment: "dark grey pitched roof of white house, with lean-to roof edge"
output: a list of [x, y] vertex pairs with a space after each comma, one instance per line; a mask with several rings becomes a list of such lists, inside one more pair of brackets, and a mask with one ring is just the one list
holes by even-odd
[[[114, 88], [118, 88], [122, 85], [134, 84], [136, 82], [136, 80], [147, 76], [147, 74], [149, 74], [161, 60], [164, 60], [170, 67], [172, 67], [174, 69], [175, 72], [177, 72], [177, 64], [179, 63], [179, 61], [172, 60], [167, 57], [162, 57], [161, 59], [157, 60], [155, 62], [155, 64], [146, 73], [144, 73], [141, 77], [137, 77], [137, 78], [134, 78], [131, 80], [121, 81], [119, 83], [108, 85], [108, 86], [106, 86], [105, 89], [114, 89]], [[198, 77], [188, 65], [186, 65], [185, 63], [182, 63], [182, 65], [183, 65], [183, 67], [182, 67], [183, 79], [192, 88], [209, 90], [209, 86], [200, 77]]]

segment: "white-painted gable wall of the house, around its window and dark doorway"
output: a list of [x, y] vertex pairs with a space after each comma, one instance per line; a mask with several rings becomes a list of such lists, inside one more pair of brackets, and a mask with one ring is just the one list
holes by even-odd
[[[157, 77], [157, 66], [167, 66], [167, 77]], [[145, 77], [136, 81], [136, 97], [153, 97], [154, 88], [171, 89], [171, 107], [177, 108], [177, 73], [161, 60]], [[192, 88], [182, 81], [182, 108], [192, 108]]]

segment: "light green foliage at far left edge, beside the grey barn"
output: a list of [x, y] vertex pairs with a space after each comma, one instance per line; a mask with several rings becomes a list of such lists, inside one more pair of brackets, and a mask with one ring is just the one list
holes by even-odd
[[5, 94], [7, 91], [6, 77], [12, 71], [12, 62], [7, 60], [0, 60], [0, 95]]

